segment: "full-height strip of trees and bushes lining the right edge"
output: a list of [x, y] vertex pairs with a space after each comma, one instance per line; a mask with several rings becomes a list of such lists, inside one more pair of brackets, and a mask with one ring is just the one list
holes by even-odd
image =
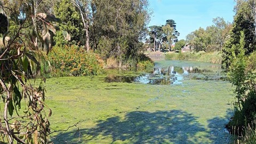
[[256, 3], [238, 0], [234, 22], [223, 46], [223, 64], [235, 87], [234, 116], [227, 127], [237, 134], [236, 143], [255, 143], [256, 120]]

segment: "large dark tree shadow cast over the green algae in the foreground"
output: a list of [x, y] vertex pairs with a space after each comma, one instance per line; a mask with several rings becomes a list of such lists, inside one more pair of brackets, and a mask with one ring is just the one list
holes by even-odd
[[97, 123], [79, 132], [60, 133], [54, 143], [201, 143], [202, 137], [197, 133], [205, 131], [197, 117], [181, 110], [132, 111], [124, 118], [114, 116]]

